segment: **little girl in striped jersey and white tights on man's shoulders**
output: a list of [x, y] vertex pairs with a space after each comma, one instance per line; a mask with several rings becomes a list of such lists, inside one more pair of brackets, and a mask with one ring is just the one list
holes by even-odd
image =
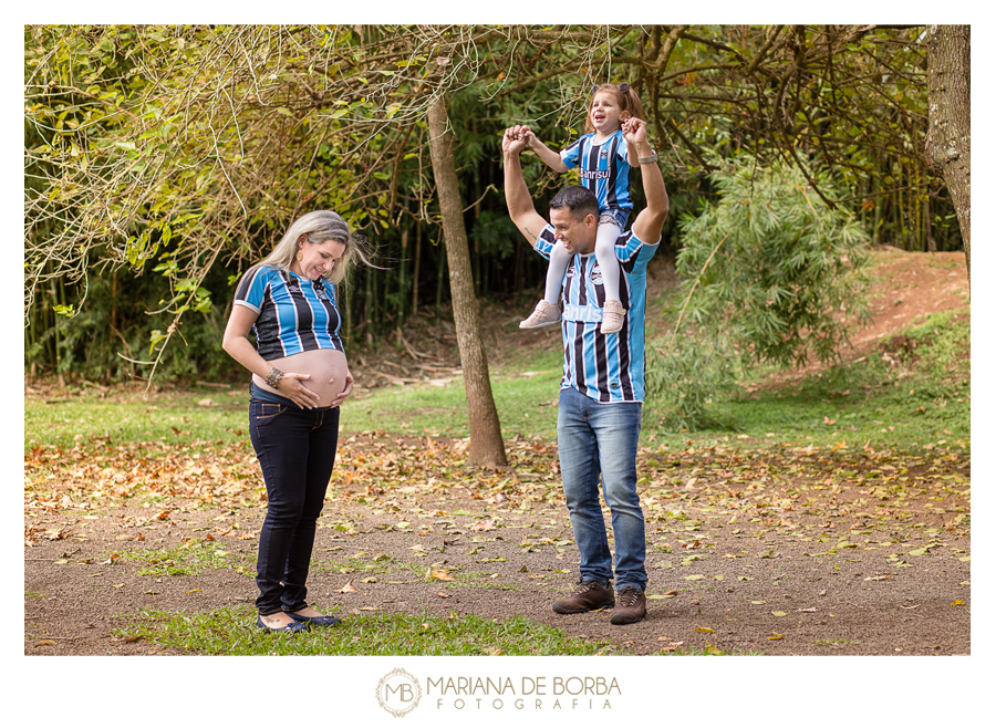
[[[584, 123], [584, 136], [561, 150], [550, 149], [527, 132], [529, 147], [547, 165], [557, 171], [581, 167], [581, 184], [599, 198], [599, 230], [595, 241], [595, 259], [605, 289], [602, 309], [603, 334], [622, 329], [625, 309], [620, 303], [619, 261], [615, 241], [626, 227], [633, 209], [630, 199], [630, 167], [637, 164], [636, 152], [631, 149], [622, 132], [622, 124], [631, 116], [643, 118], [643, 105], [629, 83], [604, 83], [592, 90], [591, 106]], [[556, 246], [547, 269], [547, 287], [542, 300], [532, 314], [519, 324], [520, 329], [538, 329], [560, 321], [560, 289], [571, 253], [563, 246]]]

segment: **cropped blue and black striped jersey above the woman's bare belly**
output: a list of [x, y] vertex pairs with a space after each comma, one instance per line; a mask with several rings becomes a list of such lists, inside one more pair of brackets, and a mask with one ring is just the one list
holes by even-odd
[[257, 266], [242, 277], [235, 302], [259, 314], [256, 345], [267, 361], [315, 349], [345, 351], [335, 289], [321, 278], [312, 282], [282, 268]]

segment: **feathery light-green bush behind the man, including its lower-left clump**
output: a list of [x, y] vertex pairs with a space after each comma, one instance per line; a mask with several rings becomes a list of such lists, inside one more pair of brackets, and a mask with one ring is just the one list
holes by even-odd
[[[831, 363], [869, 319], [869, 236], [830, 209], [795, 167], [733, 166], [710, 176], [720, 199], [683, 216], [673, 332], [651, 342], [647, 402], [662, 425], [701, 429], [712, 398], [749, 364]], [[842, 197], [826, 174], [824, 194]]]

